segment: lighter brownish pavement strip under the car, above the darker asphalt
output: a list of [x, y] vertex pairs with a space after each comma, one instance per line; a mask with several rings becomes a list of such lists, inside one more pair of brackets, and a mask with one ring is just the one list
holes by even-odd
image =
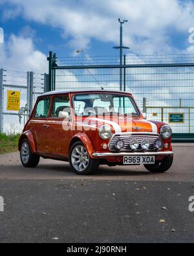
[[194, 144], [175, 144], [174, 162], [166, 173], [151, 174], [144, 166], [100, 167], [92, 176], [78, 176], [69, 163], [41, 159], [35, 169], [25, 169], [20, 162], [19, 152], [0, 155], [0, 180], [145, 180], [145, 181], [194, 181]]

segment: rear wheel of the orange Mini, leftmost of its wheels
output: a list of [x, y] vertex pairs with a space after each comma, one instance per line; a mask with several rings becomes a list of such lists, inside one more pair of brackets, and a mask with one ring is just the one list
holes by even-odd
[[20, 159], [24, 167], [36, 167], [39, 163], [39, 156], [32, 154], [27, 139], [21, 143]]

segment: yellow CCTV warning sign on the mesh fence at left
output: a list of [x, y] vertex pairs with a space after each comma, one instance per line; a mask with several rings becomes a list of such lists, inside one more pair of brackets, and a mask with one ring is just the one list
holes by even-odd
[[6, 110], [19, 111], [20, 91], [7, 91]]

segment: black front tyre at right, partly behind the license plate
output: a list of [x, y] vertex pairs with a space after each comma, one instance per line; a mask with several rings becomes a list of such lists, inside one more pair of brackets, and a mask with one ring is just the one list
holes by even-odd
[[173, 163], [173, 156], [166, 156], [161, 161], [156, 161], [155, 165], [144, 165], [144, 167], [153, 173], [166, 172]]

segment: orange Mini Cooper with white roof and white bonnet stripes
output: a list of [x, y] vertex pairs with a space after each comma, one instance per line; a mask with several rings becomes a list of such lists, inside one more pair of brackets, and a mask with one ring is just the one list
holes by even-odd
[[170, 126], [147, 121], [130, 93], [72, 89], [38, 97], [19, 151], [25, 167], [36, 167], [43, 157], [69, 161], [76, 174], [99, 165], [165, 172], [173, 163], [171, 139]]

